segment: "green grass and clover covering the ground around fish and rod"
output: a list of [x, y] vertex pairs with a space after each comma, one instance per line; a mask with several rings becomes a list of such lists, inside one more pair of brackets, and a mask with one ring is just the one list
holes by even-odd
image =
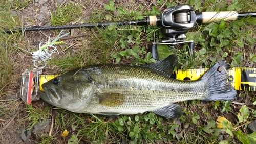
[[[22, 12], [30, 1], [5, 1], [0, 4], [0, 31], [6, 28], [19, 28], [22, 26], [22, 18], [11, 16], [12, 10]], [[196, 12], [200, 11], [226, 11], [239, 10], [240, 12], [256, 11], [255, 4], [252, 2], [238, 2], [228, 5], [226, 1], [157, 1], [157, 6], [148, 10], [144, 5], [131, 4], [130, 6], [116, 5], [110, 2], [104, 9], [95, 9], [90, 16], [89, 22], [103, 21], [122, 21], [141, 19], [143, 16], [160, 14], [166, 7], [177, 4], [190, 4], [194, 6]], [[158, 10], [162, 5], [164, 7]], [[240, 9], [242, 6], [242, 9]], [[52, 25], [66, 25], [81, 18], [84, 9], [80, 4], [74, 6], [67, 2], [65, 5], [57, 5], [56, 11], [51, 12]], [[114, 15], [113, 11], [117, 11]], [[10, 18], [11, 16], [11, 18]], [[83, 21], [86, 23], [88, 21]], [[187, 52], [187, 45], [176, 46], [176, 50], [170, 52], [163, 51], [160, 57], [164, 58], [170, 53], [178, 55], [179, 63], [176, 68], [190, 69], [200, 66], [210, 67], [220, 60], [227, 60], [234, 67], [255, 67], [256, 55], [255, 34], [253, 28], [256, 23], [255, 18], [241, 19], [231, 22], [215, 22], [200, 25], [187, 33], [187, 40], [194, 40], [196, 45], [195, 58], [191, 58]], [[151, 26], [108, 26], [106, 28], [80, 29], [81, 33], [88, 35], [76, 38], [73, 41], [67, 41], [60, 48], [60, 56], [54, 55], [48, 61], [49, 69], [54, 69], [55, 74], [65, 73], [66, 71], [88, 64], [97, 63], [123, 63], [123, 64], [145, 64], [154, 62], [151, 54], [148, 53], [150, 42], [159, 42], [164, 39], [159, 27]], [[31, 56], [20, 51], [13, 44], [18, 43], [21, 33], [1, 34], [0, 35], [0, 98], [9, 98], [7, 92], [15, 87], [19, 88], [19, 76], [21, 71], [31, 67], [22, 65], [20, 60], [30, 59]], [[54, 35], [54, 34], [53, 34]], [[58, 32], [55, 32], [55, 36]], [[20, 39], [20, 43], [27, 44], [27, 40]], [[69, 43], [70, 42], [70, 43]], [[26, 67], [28, 66], [28, 67]], [[250, 103], [256, 101], [254, 92], [242, 92], [239, 96], [241, 103]], [[8, 114], [8, 108], [5, 108], [5, 101], [0, 101], [0, 115]], [[109, 118], [100, 115], [77, 114], [67, 110], [52, 107], [46, 107], [44, 110], [38, 110], [32, 106], [26, 106], [27, 116], [21, 119], [27, 123], [28, 128], [46, 117], [54, 115], [54, 124], [59, 131], [52, 136], [41, 136], [41, 143], [54, 143], [59, 139], [61, 132], [69, 130], [69, 143], [86, 141], [88, 143], [238, 143], [238, 135], [251, 136], [246, 131], [241, 132], [239, 126], [244, 126], [249, 121], [256, 119], [256, 111], [243, 107], [236, 111], [232, 103], [225, 102], [201, 102], [186, 101], [180, 102], [184, 107], [185, 115], [179, 119], [166, 119], [154, 113], [144, 113], [137, 115], [121, 115], [118, 118]], [[249, 105], [255, 108], [254, 105]], [[248, 106], [248, 107], [249, 107]], [[210, 110], [214, 109], [220, 115], [235, 113], [238, 123], [229, 125], [224, 123], [223, 129], [216, 128], [216, 115]], [[247, 114], [248, 115], [247, 115]], [[242, 118], [241, 118], [242, 117]], [[19, 118], [20, 119], [20, 118]], [[201, 119], [204, 119], [202, 121]], [[226, 125], [225, 125], [226, 124]], [[247, 125], [245, 125], [247, 126]], [[55, 127], [55, 128], [56, 128]], [[234, 129], [235, 128], [235, 129]], [[236, 129], [238, 128], [238, 129]], [[218, 139], [220, 130], [225, 131], [225, 141]], [[47, 134], [46, 134], [47, 135]], [[253, 135], [252, 135], [253, 136]], [[66, 139], [66, 140], [68, 140]], [[241, 141], [241, 139], [239, 139]]]

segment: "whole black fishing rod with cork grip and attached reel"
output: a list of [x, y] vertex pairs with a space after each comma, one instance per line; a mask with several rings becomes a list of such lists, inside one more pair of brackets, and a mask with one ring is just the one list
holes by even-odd
[[175, 46], [177, 44], [188, 42], [191, 54], [194, 56], [194, 42], [185, 41], [186, 33], [196, 26], [196, 23], [209, 23], [218, 20], [237, 20], [245, 17], [256, 17], [256, 12], [238, 13], [237, 11], [224, 12], [201, 12], [195, 13], [193, 7], [190, 5], [177, 5], [165, 9], [159, 16], [148, 16], [143, 20], [134, 21], [118, 21], [118, 22], [101, 22], [101, 23], [84, 23], [77, 25], [62, 25], [62, 26], [33, 26], [25, 29], [6, 29], [4, 32], [22, 32], [22, 31], [44, 31], [44, 30], [62, 30], [62, 29], [80, 29], [93, 27], [106, 27], [109, 25], [152, 25], [162, 27], [162, 32], [166, 36], [166, 40], [162, 42], [153, 42], [152, 54], [153, 58], [158, 59], [157, 44], [167, 44]]

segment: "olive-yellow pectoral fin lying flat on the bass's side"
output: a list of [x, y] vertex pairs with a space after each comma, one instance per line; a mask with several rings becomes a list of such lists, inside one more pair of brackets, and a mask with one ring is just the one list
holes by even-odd
[[100, 93], [96, 96], [99, 98], [99, 104], [106, 107], [117, 107], [125, 101], [125, 97], [121, 93]]

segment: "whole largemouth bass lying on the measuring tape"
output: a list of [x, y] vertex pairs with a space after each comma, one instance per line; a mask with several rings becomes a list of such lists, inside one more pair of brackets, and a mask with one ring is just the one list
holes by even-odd
[[230, 65], [220, 61], [196, 81], [170, 78], [177, 56], [144, 66], [99, 64], [69, 71], [44, 84], [39, 97], [77, 113], [106, 116], [154, 112], [167, 118], [183, 113], [175, 102], [230, 100], [237, 92], [227, 82]]

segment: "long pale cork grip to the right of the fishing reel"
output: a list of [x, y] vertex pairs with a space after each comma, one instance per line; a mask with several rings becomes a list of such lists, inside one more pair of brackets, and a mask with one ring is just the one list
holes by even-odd
[[223, 11], [223, 12], [202, 12], [202, 23], [209, 23], [219, 20], [237, 20], [237, 11]]

